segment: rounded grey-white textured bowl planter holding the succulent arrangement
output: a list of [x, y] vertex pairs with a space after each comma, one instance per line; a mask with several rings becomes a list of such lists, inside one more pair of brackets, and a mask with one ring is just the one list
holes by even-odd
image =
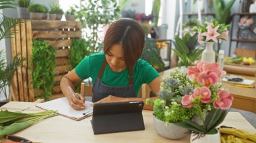
[[156, 118], [155, 116], [153, 116], [153, 119], [156, 131], [164, 138], [180, 139], [187, 136], [187, 129], [179, 127], [172, 123], [169, 123], [166, 126], [165, 122], [158, 120], [158, 118]]

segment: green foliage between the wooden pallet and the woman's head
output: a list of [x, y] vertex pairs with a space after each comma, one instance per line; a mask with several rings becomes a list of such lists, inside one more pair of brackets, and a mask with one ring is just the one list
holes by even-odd
[[89, 56], [89, 54], [92, 53], [94, 53], [94, 48], [88, 46], [86, 40], [82, 38], [74, 38], [70, 46], [69, 61], [71, 68], [75, 68], [75, 66], [77, 66], [85, 56]]

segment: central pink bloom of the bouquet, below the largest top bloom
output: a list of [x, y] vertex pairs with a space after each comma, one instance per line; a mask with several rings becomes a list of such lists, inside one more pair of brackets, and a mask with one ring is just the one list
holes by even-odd
[[207, 87], [201, 87], [199, 89], [198, 87], [194, 89], [193, 97], [199, 98], [199, 100], [203, 103], [208, 103], [211, 101], [211, 91]]

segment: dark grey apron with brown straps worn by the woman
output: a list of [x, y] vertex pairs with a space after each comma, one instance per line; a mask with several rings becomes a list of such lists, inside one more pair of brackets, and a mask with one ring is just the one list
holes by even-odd
[[135, 88], [133, 85], [133, 68], [129, 68], [128, 76], [129, 78], [129, 85], [126, 87], [110, 87], [108, 85], [104, 85], [101, 81], [101, 77], [104, 73], [106, 68], [106, 59], [102, 63], [100, 68], [100, 73], [98, 74], [98, 78], [96, 79], [94, 86], [92, 87], [92, 101], [96, 102], [100, 99], [108, 97], [108, 95], [113, 95], [117, 97], [136, 97]]

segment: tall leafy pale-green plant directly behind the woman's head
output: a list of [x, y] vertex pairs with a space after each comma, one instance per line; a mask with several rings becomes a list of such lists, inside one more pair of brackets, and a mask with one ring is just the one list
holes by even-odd
[[102, 38], [98, 36], [100, 28], [119, 18], [120, 8], [115, 0], [81, 0], [81, 5], [75, 5], [77, 11], [75, 17], [82, 22], [82, 28], [86, 30], [85, 38], [90, 48], [98, 51], [98, 44]]

